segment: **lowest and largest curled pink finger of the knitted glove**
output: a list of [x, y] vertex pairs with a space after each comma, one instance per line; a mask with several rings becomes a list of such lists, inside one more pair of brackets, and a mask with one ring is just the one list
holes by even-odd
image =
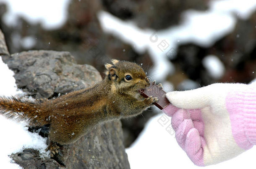
[[193, 128], [188, 131], [185, 139], [185, 152], [191, 161], [198, 166], [204, 166], [205, 145], [204, 137], [199, 135], [197, 129]]

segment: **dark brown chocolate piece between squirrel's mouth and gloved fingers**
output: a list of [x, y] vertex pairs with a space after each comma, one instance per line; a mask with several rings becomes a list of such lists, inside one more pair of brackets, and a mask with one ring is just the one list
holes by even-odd
[[165, 97], [166, 92], [162, 89], [162, 87], [156, 85], [155, 82], [150, 83], [149, 87], [140, 89], [138, 92], [145, 98], [148, 98], [149, 96], [157, 97], [159, 101], [153, 104], [156, 105], [160, 110], [164, 109], [170, 104], [170, 101], [168, 101], [168, 99]]

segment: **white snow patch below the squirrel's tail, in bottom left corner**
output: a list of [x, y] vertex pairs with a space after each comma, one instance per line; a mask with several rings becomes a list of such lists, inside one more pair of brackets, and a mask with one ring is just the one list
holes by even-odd
[[26, 125], [25, 122], [16, 122], [0, 116], [0, 134], [2, 136], [0, 141], [0, 168], [21, 168], [17, 164], [10, 163], [11, 159], [8, 155], [21, 152], [25, 148], [38, 149], [40, 153], [47, 156], [44, 151], [47, 148], [46, 138], [42, 138], [36, 133], [30, 133]]

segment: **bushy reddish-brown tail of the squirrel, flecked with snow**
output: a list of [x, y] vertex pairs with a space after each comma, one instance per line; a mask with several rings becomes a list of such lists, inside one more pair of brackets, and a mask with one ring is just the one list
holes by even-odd
[[49, 122], [46, 121], [47, 114], [44, 114], [46, 110], [40, 102], [42, 100], [24, 101], [15, 97], [0, 97], [0, 114], [7, 118], [27, 120], [35, 126], [42, 126]]

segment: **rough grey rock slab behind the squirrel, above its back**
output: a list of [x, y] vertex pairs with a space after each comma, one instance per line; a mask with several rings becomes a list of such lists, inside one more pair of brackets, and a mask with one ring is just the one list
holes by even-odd
[[102, 80], [90, 65], [78, 65], [69, 52], [31, 50], [4, 58], [15, 73], [18, 88], [36, 98], [50, 98]]

